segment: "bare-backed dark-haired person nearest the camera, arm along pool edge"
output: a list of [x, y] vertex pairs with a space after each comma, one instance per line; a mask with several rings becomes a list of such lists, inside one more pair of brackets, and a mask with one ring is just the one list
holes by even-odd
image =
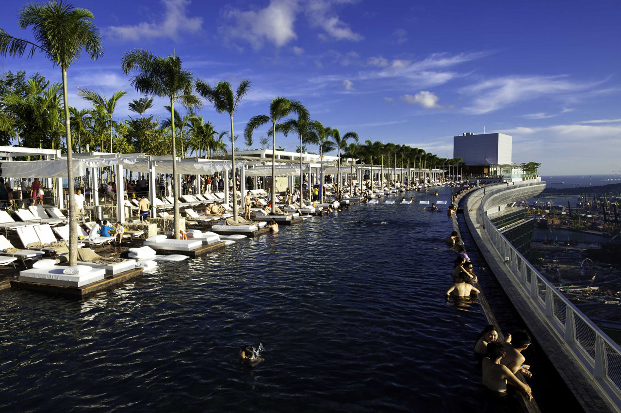
[[501, 364], [504, 355], [504, 347], [499, 342], [492, 341], [487, 344], [485, 358], [481, 362], [483, 384], [492, 392], [504, 395], [507, 394], [507, 383], [509, 383], [519, 389], [528, 401], [531, 401], [533, 396], [530, 387], [515, 377], [507, 366]]

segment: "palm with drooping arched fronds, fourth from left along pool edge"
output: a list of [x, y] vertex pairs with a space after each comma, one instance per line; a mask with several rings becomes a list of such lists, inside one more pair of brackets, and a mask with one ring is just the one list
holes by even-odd
[[270, 104], [270, 115], [256, 115], [250, 118], [243, 131], [246, 138], [252, 138], [252, 133], [268, 122], [272, 123], [272, 213], [276, 212], [276, 123], [282, 118], [288, 117], [289, 113], [296, 113], [298, 117], [309, 118], [306, 107], [298, 100], [289, 100], [286, 97], [275, 97]]

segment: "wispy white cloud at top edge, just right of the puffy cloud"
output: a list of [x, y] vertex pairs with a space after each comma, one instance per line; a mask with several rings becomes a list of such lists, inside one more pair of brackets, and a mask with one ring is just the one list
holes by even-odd
[[[345, 1], [336, 1], [345, 2]], [[364, 37], [360, 33], [356, 33], [351, 30], [351, 27], [343, 22], [332, 11], [333, 2], [327, 0], [310, 0], [306, 4], [306, 16], [309, 19], [309, 23], [313, 27], [320, 27], [324, 29], [325, 33], [320, 34], [320, 38], [323, 40], [329, 40], [333, 38], [335, 40], [352, 40], [359, 41]]]

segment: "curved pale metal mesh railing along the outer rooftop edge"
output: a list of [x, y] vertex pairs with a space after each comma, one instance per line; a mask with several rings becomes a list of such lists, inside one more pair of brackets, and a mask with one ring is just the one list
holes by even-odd
[[545, 182], [515, 182], [509, 187], [506, 184], [487, 187], [479, 207], [484, 230], [498, 254], [504, 257], [515, 284], [530, 297], [550, 329], [564, 340], [574, 361], [588, 372], [616, 409], [621, 410], [621, 347], [551, 285], [498, 231], [485, 212], [501, 205], [503, 200], [515, 198], [515, 194], [511, 197], [511, 190], [541, 184]]

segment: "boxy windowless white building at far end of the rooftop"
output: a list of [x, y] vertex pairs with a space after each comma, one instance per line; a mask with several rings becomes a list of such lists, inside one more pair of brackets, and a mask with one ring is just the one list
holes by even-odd
[[453, 158], [468, 165], [510, 165], [512, 141], [504, 133], [453, 136]]

